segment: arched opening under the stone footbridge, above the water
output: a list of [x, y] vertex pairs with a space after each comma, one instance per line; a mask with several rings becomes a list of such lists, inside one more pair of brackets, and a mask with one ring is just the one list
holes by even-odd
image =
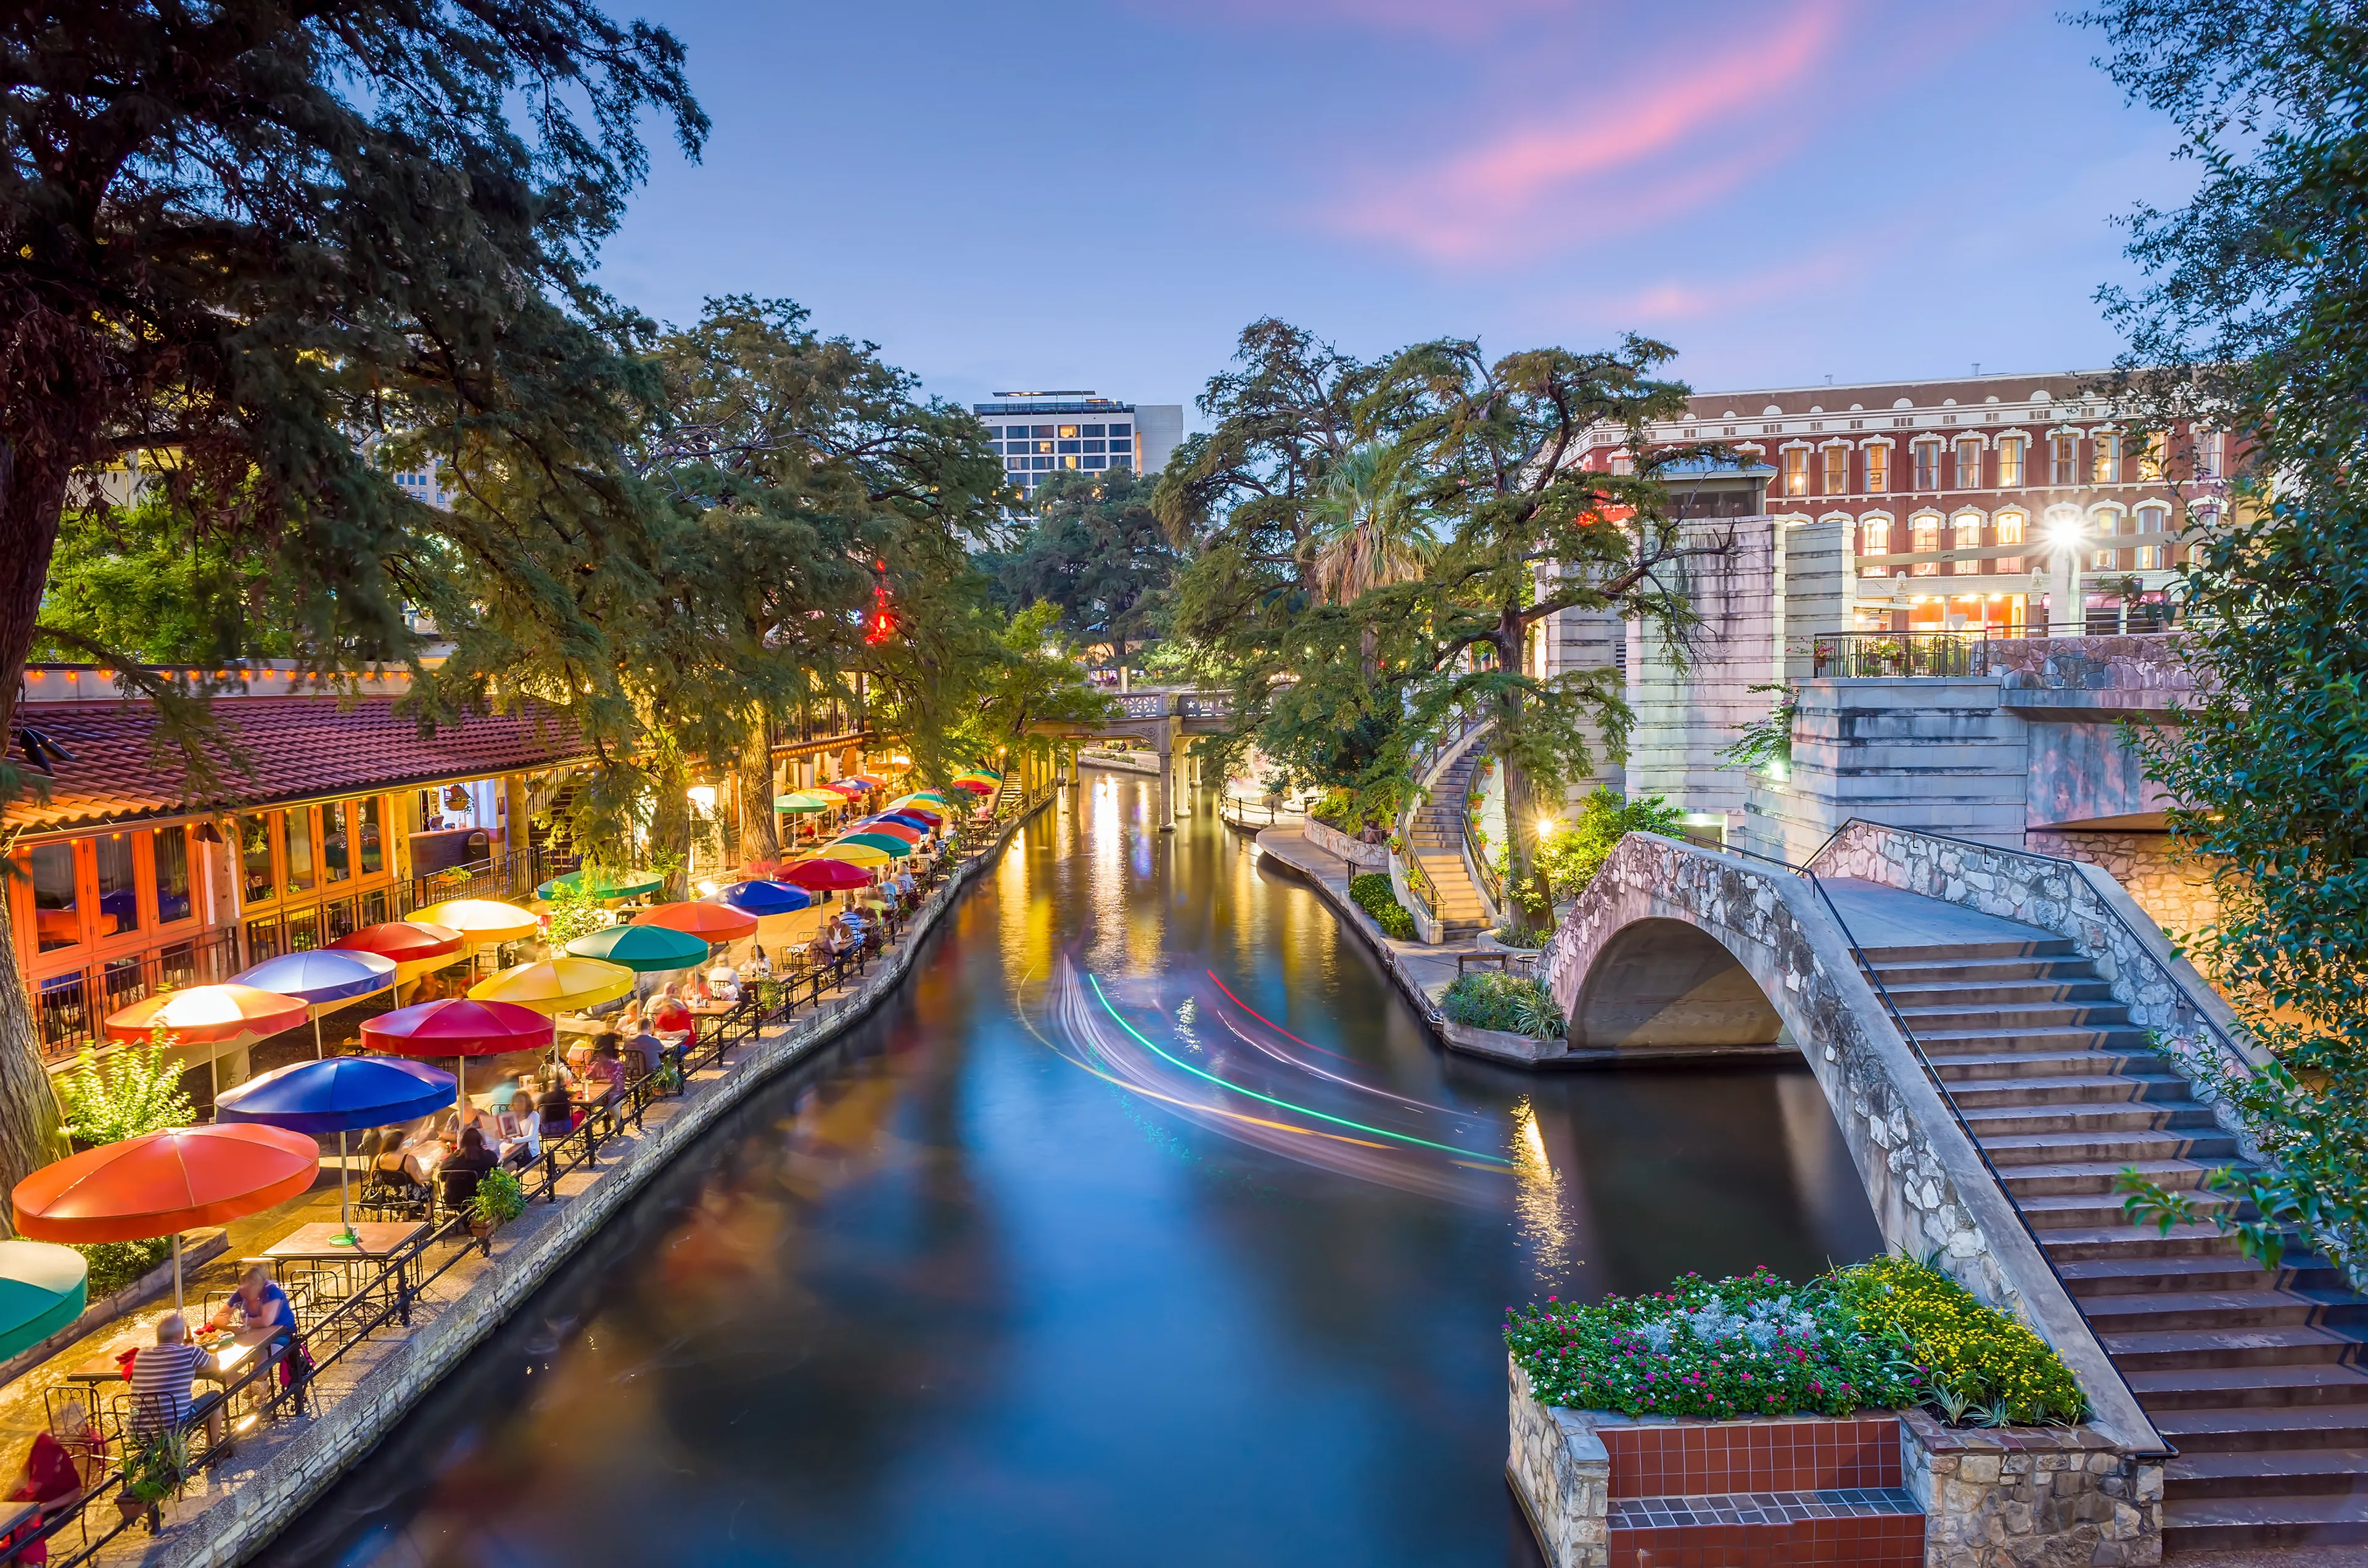
[[1570, 1009], [1570, 1045], [1733, 1049], [1790, 1037], [1759, 981], [1719, 938], [1653, 917], [1603, 943]]

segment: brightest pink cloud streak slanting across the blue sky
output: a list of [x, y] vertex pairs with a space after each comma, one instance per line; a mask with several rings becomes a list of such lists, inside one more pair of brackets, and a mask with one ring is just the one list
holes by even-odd
[[[1842, 33], [1842, 0], [1804, 0], [1710, 57], [1672, 57], [1636, 85], [1494, 135], [1428, 166], [1364, 175], [1331, 227], [1435, 261], [1534, 253], [1714, 201], [1797, 144], [1764, 111], [1795, 95]], [[1752, 123], [1745, 123], [1752, 121]], [[1714, 135], [1748, 144], [1705, 161]], [[1691, 156], [1688, 156], [1691, 154]]]

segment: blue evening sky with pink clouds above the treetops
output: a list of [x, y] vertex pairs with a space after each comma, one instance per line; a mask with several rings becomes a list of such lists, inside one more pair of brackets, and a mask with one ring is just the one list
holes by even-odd
[[2063, 0], [611, 5], [715, 135], [604, 282], [791, 296], [959, 400], [1191, 403], [1260, 315], [1636, 329], [1705, 391], [2091, 367], [2112, 216], [2193, 178]]

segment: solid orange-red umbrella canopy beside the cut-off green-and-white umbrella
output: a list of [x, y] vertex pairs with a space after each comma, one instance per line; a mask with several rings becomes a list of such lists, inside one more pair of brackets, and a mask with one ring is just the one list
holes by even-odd
[[9, 1196], [31, 1241], [144, 1241], [284, 1203], [317, 1170], [320, 1144], [305, 1132], [215, 1123], [71, 1153]]

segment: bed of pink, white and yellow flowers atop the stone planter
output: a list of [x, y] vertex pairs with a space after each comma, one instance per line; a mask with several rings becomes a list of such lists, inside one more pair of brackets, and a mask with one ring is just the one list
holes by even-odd
[[2086, 1402], [2046, 1341], [1946, 1274], [1880, 1258], [1790, 1284], [1686, 1274], [1655, 1296], [1506, 1312], [1537, 1397], [1629, 1416], [1847, 1416], [1935, 1405], [1951, 1421], [2063, 1424]]

